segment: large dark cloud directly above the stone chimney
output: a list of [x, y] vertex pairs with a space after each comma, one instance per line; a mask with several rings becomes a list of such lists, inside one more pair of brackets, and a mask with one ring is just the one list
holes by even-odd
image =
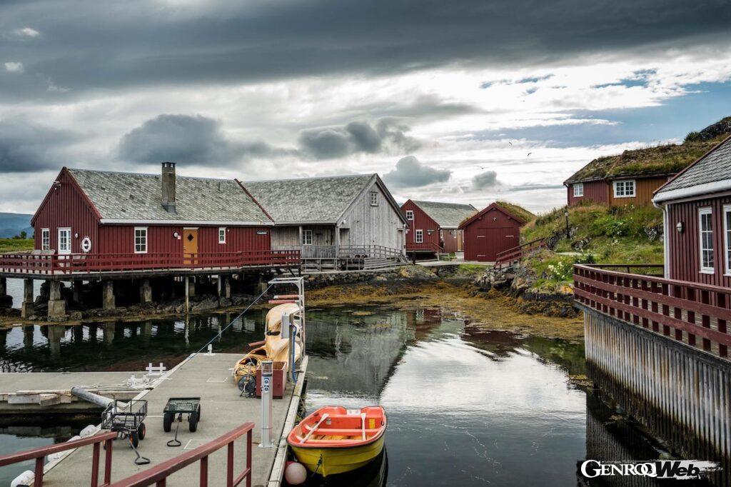
[[159, 115], [120, 140], [119, 159], [140, 164], [162, 161], [229, 165], [242, 159], [277, 155], [266, 143], [229, 140], [219, 121], [200, 115]]

